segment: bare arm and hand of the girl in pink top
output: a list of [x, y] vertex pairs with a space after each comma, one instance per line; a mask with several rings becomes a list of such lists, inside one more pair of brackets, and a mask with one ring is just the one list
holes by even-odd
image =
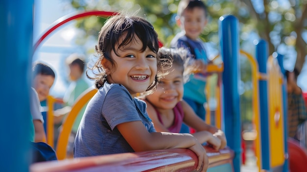
[[213, 125], [208, 125], [198, 117], [191, 106], [185, 102], [184, 100], [181, 101], [181, 105], [184, 111], [184, 118], [183, 122], [189, 125], [190, 127], [194, 128], [196, 131], [208, 131], [213, 134], [213, 136], [219, 138], [221, 140], [220, 148], [224, 148], [227, 145], [225, 134], [222, 130], [216, 128]]

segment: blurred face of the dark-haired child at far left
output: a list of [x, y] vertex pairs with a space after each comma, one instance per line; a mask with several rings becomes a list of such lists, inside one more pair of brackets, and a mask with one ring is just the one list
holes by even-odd
[[36, 90], [40, 101], [47, 99], [53, 82], [54, 77], [51, 75], [38, 74], [35, 76], [33, 80], [33, 88]]

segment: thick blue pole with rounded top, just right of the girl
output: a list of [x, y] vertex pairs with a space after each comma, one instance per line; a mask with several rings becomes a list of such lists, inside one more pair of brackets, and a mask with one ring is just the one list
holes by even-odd
[[219, 37], [221, 56], [224, 61], [224, 121], [228, 146], [234, 150], [233, 168], [240, 172], [241, 166], [241, 116], [239, 98], [239, 29], [236, 17], [220, 18]]

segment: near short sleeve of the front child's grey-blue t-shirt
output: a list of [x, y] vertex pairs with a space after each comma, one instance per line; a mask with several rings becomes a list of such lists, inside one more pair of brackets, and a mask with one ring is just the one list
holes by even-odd
[[113, 86], [106, 94], [102, 115], [112, 130], [120, 123], [141, 121], [132, 97], [121, 85]]

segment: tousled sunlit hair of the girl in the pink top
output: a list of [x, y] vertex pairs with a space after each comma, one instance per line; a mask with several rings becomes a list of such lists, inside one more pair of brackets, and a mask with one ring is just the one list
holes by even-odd
[[159, 49], [157, 56], [161, 58], [161, 61], [165, 59], [167, 59], [168, 61], [172, 61], [173, 65], [176, 65], [176, 69], [182, 71], [184, 82], [186, 82], [189, 78], [189, 75], [195, 71], [194, 66], [190, 65], [191, 60], [193, 60], [193, 58], [191, 58], [188, 49], [182, 47], [171, 49], [162, 47]]

